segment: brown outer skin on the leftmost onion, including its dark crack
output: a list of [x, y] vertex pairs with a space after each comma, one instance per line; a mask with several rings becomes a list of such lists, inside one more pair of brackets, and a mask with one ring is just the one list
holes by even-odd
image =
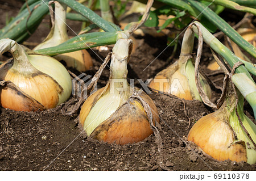
[[[32, 75], [24, 75], [13, 69], [9, 70], [11, 66], [13, 66], [12, 60], [0, 66], [0, 79], [11, 81], [16, 87], [15, 89], [1, 87], [2, 107], [15, 111], [37, 111], [54, 108], [57, 105], [58, 92], [61, 93], [63, 89], [54, 79], [40, 71], [35, 71]], [[19, 88], [19, 84], [24, 87]]]

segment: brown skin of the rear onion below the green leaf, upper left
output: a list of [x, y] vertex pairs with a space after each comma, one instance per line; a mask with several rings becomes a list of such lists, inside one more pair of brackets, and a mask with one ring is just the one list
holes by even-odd
[[65, 61], [67, 66], [75, 68], [78, 71], [86, 71], [93, 66], [92, 57], [85, 49], [59, 54], [54, 58], [59, 61]]

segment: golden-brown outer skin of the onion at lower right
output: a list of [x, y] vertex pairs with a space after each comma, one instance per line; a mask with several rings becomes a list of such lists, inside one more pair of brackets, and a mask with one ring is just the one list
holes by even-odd
[[218, 119], [217, 112], [202, 117], [188, 133], [188, 141], [194, 142], [205, 153], [218, 161], [247, 161], [245, 142], [234, 141], [232, 128]]

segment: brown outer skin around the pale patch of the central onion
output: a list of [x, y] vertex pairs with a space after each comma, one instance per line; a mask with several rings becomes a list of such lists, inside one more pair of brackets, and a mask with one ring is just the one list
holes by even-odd
[[[79, 116], [79, 124], [82, 128], [91, 108], [100, 98], [104, 90], [105, 87], [97, 90], [84, 102]], [[152, 99], [144, 92], [140, 96], [152, 109], [153, 123], [155, 124], [155, 121], [159, 123], [158, 110]], [[123, 104], [107, 120], [98, 125], [90, 136], [99, 141], [108, 142], [109, 144], [125, 145], [142, 141], [144, 138], [150, 136], [152, 132], [142, 104], [138, 100], [133, 99], [133, 101]]]

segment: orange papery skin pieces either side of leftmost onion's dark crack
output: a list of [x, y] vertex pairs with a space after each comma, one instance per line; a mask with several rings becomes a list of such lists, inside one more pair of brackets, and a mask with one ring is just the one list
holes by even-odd
[[[61, 87], [49, 76], [45, 74], [34, 74], [24, 76], [22, 73], [9, 70], [5, 77], [0, 75], [1, 79], [11, 81], [20, 88], [23, 92], [30, 95], [46, 108], [54, 108], [59, 102]], [[56, 91], [57, 90], [57, 91]], [[15, 111], [28, 111], [23, 109], [22, 104], [16, 104], [15, 92], [9, 89], [2, 89], [1, 104], [5, 108], [10, 108]]]

